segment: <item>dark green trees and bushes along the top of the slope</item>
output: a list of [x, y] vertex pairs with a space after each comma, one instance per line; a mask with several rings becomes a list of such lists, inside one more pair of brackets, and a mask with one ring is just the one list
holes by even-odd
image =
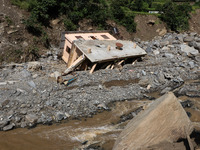
[[[63, 16], [66, 30], [76, 30], [78, 22], [84, 18], [91, 19], [92, 24], [103, 29], [106, 20], [111, 19], [127, 28], [136, 30], [135, 14], [148, 14], [148, 11], [162, 11], [161, 19], [174, 31], [187, 30], [189, 12], [199, 8], [192, 7], [187, 0], [11, 0], [13, 4], [30, 11], [30, 17], [24, 20], [27, 30], [43, 36], [47, 46], [47, 36], [43, 29], [49, 26], [50, 20]], [[184, 2], [183, 2], [184, 1]], [[189, 1], [189, 0], [188, 0]], [[45, 42], [46, 41], [46, 42]]]

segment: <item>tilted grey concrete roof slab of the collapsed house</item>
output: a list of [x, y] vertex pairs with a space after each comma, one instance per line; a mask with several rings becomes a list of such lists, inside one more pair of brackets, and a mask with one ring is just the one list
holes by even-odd
[[[116, 43], [123, 47], [117, 49]], [[106, 62], [128, 57], [138, 57], [146, 55], [146, 52], [135, 43], [122, 40], [77, 40], [74, 45], [92, 62]], [[104, 47], [100, 45], [105, 45]], [[88, 52], [90, 49], [90, 52]]]

